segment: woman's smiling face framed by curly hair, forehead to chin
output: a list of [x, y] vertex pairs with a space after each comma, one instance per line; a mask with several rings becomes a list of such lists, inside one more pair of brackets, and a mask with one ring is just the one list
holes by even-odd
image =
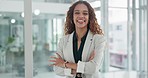
[[73, 13], [73, 21], [76, 28], [87, 28], [89, 20], [88, 8], [84, 4], [76, 5]]

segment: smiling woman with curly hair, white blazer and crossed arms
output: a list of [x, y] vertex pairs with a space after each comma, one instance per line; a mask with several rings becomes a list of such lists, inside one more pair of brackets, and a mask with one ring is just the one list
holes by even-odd
[[64, 31], [57, 57], [50, 60], [55, 73], [67, 78], [99, 78], [105, 38], [88, 2], [77, 1], [69, 8]]

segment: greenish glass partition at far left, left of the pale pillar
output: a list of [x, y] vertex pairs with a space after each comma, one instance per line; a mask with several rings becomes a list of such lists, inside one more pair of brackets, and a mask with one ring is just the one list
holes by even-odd
[[[12, 5], [17, 5], [11, 7]], [[19, 7], [19, 8], [18, 8]], [[25, 78], [23, 1], [0, 1], [0, 77]]]

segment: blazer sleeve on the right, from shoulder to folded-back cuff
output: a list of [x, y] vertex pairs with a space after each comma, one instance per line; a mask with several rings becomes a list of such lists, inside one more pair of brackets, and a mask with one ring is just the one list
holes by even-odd
[[85, 73], [85, 74], [94, 74], [96, 71], [99, 71], [103, 56], [104, 56], [104, 49], [106, 46], [106, 39], [104, 36], [94, 35], [94, 51], [95, 57], [93, 60], [88, 62], [78, 61], [77, 64], [77, 72]]

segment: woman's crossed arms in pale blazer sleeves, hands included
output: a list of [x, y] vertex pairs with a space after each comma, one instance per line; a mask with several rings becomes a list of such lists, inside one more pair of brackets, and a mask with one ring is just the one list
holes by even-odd
[[67, 40], [67, 37], [59, 43], [58, 53], [56, 53], [57, 57], [52, 56], [52, 60], [50, 60], [50, 62], [53, 62], [52, 65], [57, 75], [73, 76], [76, 72], [92, 75], [100, 69], [106, 45], [106, 40], [103, 36], [94, 36], [94, 51], [91, 52], [87, 62], [78, 61], [78, 63], [65, 62], [62, 53], [63, 45], [65, 45], [64, 42], [66, 42], [65, 40]]

